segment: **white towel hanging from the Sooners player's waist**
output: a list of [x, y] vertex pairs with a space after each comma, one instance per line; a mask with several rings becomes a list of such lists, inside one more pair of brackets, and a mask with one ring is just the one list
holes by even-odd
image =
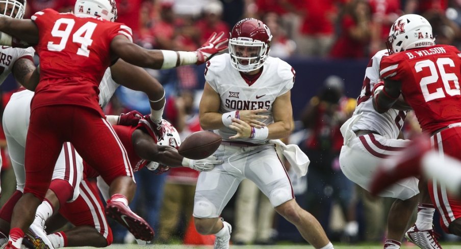
[[296, 144], [285, 144], [280, 139], [269, 140], [269, 143], [273, 143], [280, 147], [280, 150], [284, 154], [285, 158], [290, 163], [291, 167], [299, 177], [304, 176], [308, 173], [309, 160], [308, 156], [302, 152]]

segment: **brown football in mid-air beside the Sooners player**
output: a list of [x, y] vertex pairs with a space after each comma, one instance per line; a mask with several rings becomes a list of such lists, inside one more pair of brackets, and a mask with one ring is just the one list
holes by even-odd
[[177, 151], [185, 158], [200, 160], [210, 157], [218, 149], [221, 140], [221, 136], [213, 132], [194, 132], [184, 139]]

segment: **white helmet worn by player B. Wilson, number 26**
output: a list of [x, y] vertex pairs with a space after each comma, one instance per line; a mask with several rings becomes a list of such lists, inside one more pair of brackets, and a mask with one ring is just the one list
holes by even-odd
[[435, 45], [432, 37], [432, 26], [426, 18], [408, 14], [399, 17], [392, 24], [386, 45], [389, 54], [412, 48], [422, 48]]

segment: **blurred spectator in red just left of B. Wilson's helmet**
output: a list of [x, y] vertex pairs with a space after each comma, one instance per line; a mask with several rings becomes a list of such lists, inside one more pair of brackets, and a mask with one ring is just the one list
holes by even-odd
[[371, 38], [371, 12], [365, 0], [352, 0], [344, 7], [341, 32], [330, 56], [334, 58], [363, 58]]

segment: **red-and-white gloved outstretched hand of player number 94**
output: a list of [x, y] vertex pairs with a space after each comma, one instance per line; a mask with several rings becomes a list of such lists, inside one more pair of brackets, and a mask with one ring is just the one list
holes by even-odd
[[213, 32], [208, 41], [203, 43], [203, 45], [195, 51], [197, 54], [197, 65], [205, 63], [205, 61], [211, 59], [215, 54], [227, 49], [227, 42], [229, 39], [222, 38], [222, 36], [224, 36], [224, 32], [219, 33], [219, 35]]

